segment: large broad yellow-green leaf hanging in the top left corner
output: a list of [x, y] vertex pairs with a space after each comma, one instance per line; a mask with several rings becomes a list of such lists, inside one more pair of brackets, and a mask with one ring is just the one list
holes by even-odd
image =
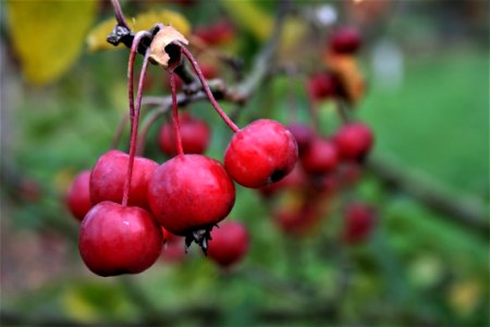
[[70, 69], [96, 10], [95, 0], [7, 2], [12, 46], [29, 83], [48, 84]]

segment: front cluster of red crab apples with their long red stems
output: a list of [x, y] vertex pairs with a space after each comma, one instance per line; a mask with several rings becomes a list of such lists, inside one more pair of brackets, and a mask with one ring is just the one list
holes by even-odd
[[[210, 258], [230, 266], [247, 250], [246, 229], [238, 222], [213, 228], [233, 208], [234, 183], [267, 186], [287, 175], [298, 158], [293, 134], [277, 121], [259, 119], [238, 129], [213, 98], [185, 38], [175, 38], [176, 32], [169, 26], [158, 25], [154, 32], [151, 45], [160, 48], [150, 46], [145, 53], [136, 104], [133, 66], [147, 32], [134, 36], [130, 52], [130, 153], [107, 152], [90, 171], [75, 179], [69, 193], [70, 209], [81, 220], [81, 256], [100, 276], [137, 274], [150, 267], [160, 256], [163, 231], [184, 237], [186, 246], [196, 242]], [[172, 41], [162, 47], [160, 40], [169, 36]], [[161, 128], [159, 145], [173, 157], [161, 165], [135, 156], [143, 84], [151, 56], [157, 56], [157, 62], [162, 56], [170, 58], [162, 65], [170, 76], [173, 122]], [[210, 137], [206, 123], [177, 112], [174, 69], [181, 56], [188, 59], [211, 105], [234, 132], [223, 164], [203, 155]], [[216, 241], [209, 242], [212, 238]]]

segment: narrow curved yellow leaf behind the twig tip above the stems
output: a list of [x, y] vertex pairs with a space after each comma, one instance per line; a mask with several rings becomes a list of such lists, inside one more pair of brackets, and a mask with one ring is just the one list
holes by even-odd
[[[155, 24], [162, 23], [163, 25], [174, 27], [184, 36], [188, 36], [191, 33], [191, 24], [180, 13], [170, 10], [149, 11], [140, 13], [134, 19], [127, 16], [126, 21], [130, 27], [135, 32], [150, 29]], [[117, 47], [107, 41], [107, 36], [112, 32], [115, 24], [115, 19], [109, 19], [91, 29], [87, 37], [88, 50], [100, 51], [115, 49]]]

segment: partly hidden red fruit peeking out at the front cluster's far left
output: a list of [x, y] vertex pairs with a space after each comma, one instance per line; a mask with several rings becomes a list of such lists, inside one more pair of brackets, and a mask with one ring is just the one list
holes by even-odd
[[82, 221], [91, 208], [90, 171], [79, 172], [72, 182], [68, 193], [68, 205], [73, 217]]

